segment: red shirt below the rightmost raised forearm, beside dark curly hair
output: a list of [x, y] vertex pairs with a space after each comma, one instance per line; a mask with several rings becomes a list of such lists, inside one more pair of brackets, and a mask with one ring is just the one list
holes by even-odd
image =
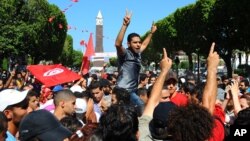
[[[223, 141], [225, 136], [225, 128], [221, 121], [223, 123], [225, 122], [225, 113], [222, 110], [221, 106], [215, 105], [214, 116], [216, 116], [217, 118], [214, 118], [214, 128], [212, 131], [212, 136], [209, 138], [209, 141]], [[218, 118], [221, 121], [219, 121]]]

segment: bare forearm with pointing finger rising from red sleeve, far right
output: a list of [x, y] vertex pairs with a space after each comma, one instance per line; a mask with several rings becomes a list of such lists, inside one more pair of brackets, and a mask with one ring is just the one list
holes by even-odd
[[204, 88], [202, 105], [213, 114], [217, 95], [217, 67], [219, 65], [219, 55], [214, 51], [215, 43], [212, 43], [207, 57], [207, 82]]

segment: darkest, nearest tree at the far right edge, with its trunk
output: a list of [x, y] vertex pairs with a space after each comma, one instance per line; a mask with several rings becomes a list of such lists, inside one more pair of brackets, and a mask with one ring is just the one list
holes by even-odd
[[246, 24], [249, 12], [247, 0], [217, 0], [211, 12], [210, 38], [217, 43], [217, 51], [226, 63], [229, 77], [232, 77], [233, 50], [249, 50], [249, 25]]

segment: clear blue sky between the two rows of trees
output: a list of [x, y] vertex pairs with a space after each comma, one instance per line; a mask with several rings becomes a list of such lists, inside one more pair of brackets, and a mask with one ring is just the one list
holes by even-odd
[[[126, 37], [131, 32], [144, 35], [150, 30], [152, 22], [157, 22], [176, 9], [193, 4], [196, 0], [48, 0], [50, 4], [57, 5], [65, 16], [71, 29], [68, 34], [73, 38], [75, 50], [85, 52], [80, 45], [81, 40], [88, 41], [93, 33], [95, 46], [96, 17], [101, 11], [103, 17], [103, 50], [115, 52], [115, 38], [121, 28], [126, 9], [132, 12], [131, 22], [126, 31]], [[77, 1], [77, 0], [76, 0]], [[156, 31], [157, 32], [157, 31]], [[126, 47], [126, 46], [125, 46]]]

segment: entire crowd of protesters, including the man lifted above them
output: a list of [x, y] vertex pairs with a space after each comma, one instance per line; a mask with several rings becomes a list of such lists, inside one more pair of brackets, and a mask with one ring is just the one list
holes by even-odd
[[124, 49], [130, 17], [127, 12], [116, 40], [118, 74], [106, 73], [104, 66], [98, 73], [80, 73], [79, 80], [47, 87], [28, 70], [2, 70], [0, 141], [223, 141], [230, 137], [230, 126], [250, 124], [249, 80], [217, 76], [214, 43], [206, 82], [193, 73], [178, 79], [165, 49], [158, 74], [140, 72], [137, 54], [156, 27], [145, 42], [130, 34]]

